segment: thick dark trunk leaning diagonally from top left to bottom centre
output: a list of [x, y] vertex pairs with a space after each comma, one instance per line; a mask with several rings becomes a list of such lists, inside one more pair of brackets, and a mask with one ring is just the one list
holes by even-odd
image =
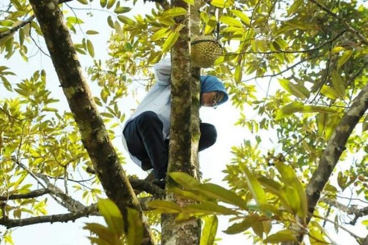
[[[145, 226], [144, 241], [146, 244], [154, 244], [155, 240], [149, 224], [143, 216], [139, 202], [108, 138], [88, 84], [82, 75], [61, 10], [53, 0], [30, 0], [30, 3], [44, 34], [60, 86], [79, 127], [82, 143], [97, 170], [106, 195], [117, 204], [125, 218], [127, 207], [139, 211]], [[127, 231], [128, 222], [125, 224]]]

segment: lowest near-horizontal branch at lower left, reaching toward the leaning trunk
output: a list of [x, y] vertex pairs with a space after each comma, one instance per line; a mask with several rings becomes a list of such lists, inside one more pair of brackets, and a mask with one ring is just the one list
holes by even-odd
[[4, 225], [7, 229], [9, 229], [13, 227], [26, 226], [30, 224], [75, 221], [81, 217], [88, 217], [90, 215], [99, 215], [96, 204], [92, 204], [76, 212], [71, 212], [67, 214], [45, 215], [20, 220], [11, 220], [2, 218], [0, 219], [0, 224]]

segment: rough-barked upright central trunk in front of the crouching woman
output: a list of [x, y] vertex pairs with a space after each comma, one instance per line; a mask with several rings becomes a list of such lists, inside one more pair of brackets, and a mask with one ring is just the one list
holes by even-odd
[[[183, 7], [189, 12], [189, 6], [182, 0], [174, 0], [173, 7]], [[190, 73], [190, 28], [188, 18], [176, 18], [177, 23], [184, 22], [176, 44], [171, 49], [171, 118], [168, 172], [186, 172], [195, 176], [196, 168], [191, 162], [191, 73]], [[175, 183], [167, 178], [167, 187]], [[183, 206], [191, 201], [173, 194], [166, 199]], [[200, 221], [175, 222], [175, 215], [161, 216], [163, 245], [196, 245], [200, 239]]]

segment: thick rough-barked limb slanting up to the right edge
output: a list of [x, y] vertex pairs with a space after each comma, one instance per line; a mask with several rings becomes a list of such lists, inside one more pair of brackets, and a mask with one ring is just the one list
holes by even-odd
[[[307, 223], [312, 218], [320, 194], [326, 185], [332, 171], [334, 170], [342, 151], [345, 149], [345, 144], [353, 129], [359, 120], [363, 117], [368, 108], [368, 84], [364, 86], [359, 95], [354, 98], [351, 107], [347, 110], [342, 120], [336, 127], [334, 133], [329, 139], [327, 146], [319, 160], [317, 169], [312, 175], [312, 178], [306, 188], [308, 200], [308, 216]], [[299, 241], [303, 235], [299, 237]]]

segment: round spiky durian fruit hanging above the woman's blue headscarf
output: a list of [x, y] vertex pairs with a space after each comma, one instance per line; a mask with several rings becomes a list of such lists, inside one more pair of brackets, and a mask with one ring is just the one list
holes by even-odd
[[194, 37], [190, 42], [191, 62], [196, 67], [211, 67], [222, 54], [222, 47], [212, 36]]

